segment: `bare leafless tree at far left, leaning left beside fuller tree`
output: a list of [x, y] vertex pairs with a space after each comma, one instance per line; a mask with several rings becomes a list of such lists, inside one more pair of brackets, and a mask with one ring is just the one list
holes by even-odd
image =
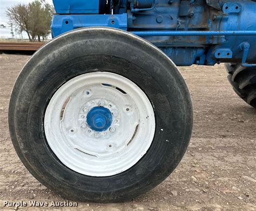
[[29, 13], [29, 6], [25, 4], [17, 4], [16, 6], [6, 10], [6, 15], [9, 17], [10, 21], [20, 31], [25, 31], [31, 41], [32, 39], [29, 33]]

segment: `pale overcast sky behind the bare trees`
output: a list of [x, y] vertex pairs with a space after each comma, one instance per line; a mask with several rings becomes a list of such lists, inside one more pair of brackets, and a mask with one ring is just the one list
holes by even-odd
[[[0, 25], [3, 24], [6, 26], [6, 28], [1, 28], [0, 26], [0, 39], [1, 38], [11, 38], [11, 28], [9, 26], [9, 20], [8, 17], [5, 15], [5, 10], [9, 8], [10, 6], [14, 6], [19, 3], [25, 3], [28, 4], [32, 2], [33, 0], [0, 0]], [[49, 3], [52, 3], [52, 0], [46, 0]], [[15, 33], [14, 30], [14, 35], [16, 34], [16, 38], [19, 38], [19, 35]], [[23, 38], [26, 39], [28, 36], [26, 33], [22, 33]]]

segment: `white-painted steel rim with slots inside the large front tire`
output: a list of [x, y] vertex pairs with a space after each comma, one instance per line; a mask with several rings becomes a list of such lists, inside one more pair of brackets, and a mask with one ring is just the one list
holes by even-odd
[[[111, 113], [110, 127], [104, 121], [107, 130], [97, 131], [98, 125], [93, 130], [91, 123], [98, 119], [92, 120], [91, 114], [105, 108]], [[100, 120], [110, 122], [106, 117], [109, 112]], [[146, 94], [131, 80], [110, 72], [85, 73], [66, 82], [53, 94], [44, 117], [46, 140], [58, 159], [89, 176], [111, 176], [131, 168], [151, 146], [155, 127]]]

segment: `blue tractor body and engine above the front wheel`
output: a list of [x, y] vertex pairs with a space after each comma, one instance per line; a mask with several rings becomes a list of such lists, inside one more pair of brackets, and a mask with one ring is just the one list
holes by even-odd
[[52, 37], [87, 26], [130, 31], [176, 65], [256, 63], [256, 2], [55, 0]]

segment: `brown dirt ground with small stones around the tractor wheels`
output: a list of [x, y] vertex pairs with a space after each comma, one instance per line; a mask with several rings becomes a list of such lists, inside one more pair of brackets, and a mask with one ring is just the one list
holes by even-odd
[[[0, 209], [15, 208], [3, 207], [4, 201], [65, 201], [33, 178], [11, 143], [9, 97], [29, 57], [0, 55]], [[132, 201], [78, 203], [73, 210], [256, 209], [256, 110], [234, 93], [224, 65], [180, 67], [180, 71], [191, 91], [194, 129], [176, 170], [159, 186]]]

